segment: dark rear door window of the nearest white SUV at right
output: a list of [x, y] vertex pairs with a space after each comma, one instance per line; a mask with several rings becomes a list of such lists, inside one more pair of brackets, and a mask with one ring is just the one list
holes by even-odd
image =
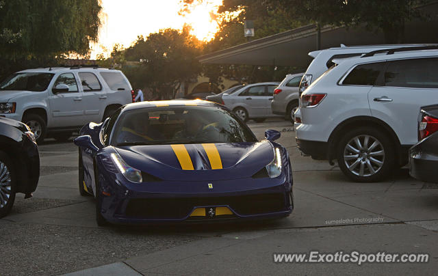
[[387, 61], [385, 86], [438, 88], [438, 58]]

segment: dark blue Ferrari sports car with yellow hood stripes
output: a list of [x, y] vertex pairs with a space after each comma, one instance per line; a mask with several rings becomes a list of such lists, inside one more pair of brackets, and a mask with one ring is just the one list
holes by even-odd
[[137, 102], [83, 126], [79, 191], [96, 197], [96, 221], [156, 223], [268, 219], [293, 209], [286, 149], [222, 105]]

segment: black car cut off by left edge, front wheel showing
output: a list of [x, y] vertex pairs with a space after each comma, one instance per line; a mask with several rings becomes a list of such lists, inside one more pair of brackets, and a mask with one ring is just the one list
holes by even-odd
[[40, 156], [29, 126], [0, 117], [0, 218], [14, 205], [15, 194], [31, 197], [40, 177]]

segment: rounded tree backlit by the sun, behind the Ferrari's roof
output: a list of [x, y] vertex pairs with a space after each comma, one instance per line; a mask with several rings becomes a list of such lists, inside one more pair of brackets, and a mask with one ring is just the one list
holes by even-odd
[[181, 83], [196, 78], [201, 65], [196, 57], [201, 54], [201, 42], [190, 34], [190, 27], [163, 29], [126, 49], [127, 61], [138, 61], [136, 68], [124, 68], [135, 87], [151, 87], [162, 99], [175, 98]]

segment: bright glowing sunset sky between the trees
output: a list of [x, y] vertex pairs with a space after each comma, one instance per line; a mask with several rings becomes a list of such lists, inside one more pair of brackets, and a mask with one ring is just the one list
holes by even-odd
[[183, 29], [184, 25], [192, 27], [198, 40], [209, 41], [219, 29], [217, 11], [222, 0], [193, 0], [188, 5], [181, 0], [101, 0], [101, 5], [102, 25], [99, 42], [91, 44], [92, 59], [108, 57], [114, 44], [127, 48], [137, 36], [146, 38], [160, 29]]

